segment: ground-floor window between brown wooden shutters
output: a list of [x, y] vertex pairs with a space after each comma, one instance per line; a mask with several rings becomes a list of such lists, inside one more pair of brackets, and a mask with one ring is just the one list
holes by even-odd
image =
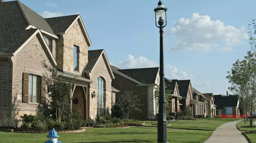
[[[32, 76], [32, 81], [30, 81], [30, 76]], [[38, 88], [36, 89], [36, 91], [38, 91], [39, 90], [39, 92], [38, 92], [38, 95], [36, 95], [36, 96], [34, 96], [33, 95], [33, 86], [34, 86], [34, 82], [33, 82], [33, 77], [36, 77], [36, 78], [38, 78], [39, 79], [39, 81], [37, 81], [36, 82], [36, 87], [38, 86]], [[38, 103], [38, 104], [40, 104], [40, 100], [41, 100], [41, 95], [42, 95], [42, 93], [41, 93], [41, 76], [38, 76], [38, 75], [35, 75], [35, 74], [29, 74], [29, 84], [31, 83], [31, 89], [28, 89], [28, 93], [29, 93], [29, 100], [28, 100], [28, 102], [29, 103]], [[28, 86], [28, 88], [29, 88], [30, 86]], [[30, 94], [30, 92], [31, 92], [31, 94]], [[36, 99], [36, 102], [34, 102], [34, 98], [37, 98]]]

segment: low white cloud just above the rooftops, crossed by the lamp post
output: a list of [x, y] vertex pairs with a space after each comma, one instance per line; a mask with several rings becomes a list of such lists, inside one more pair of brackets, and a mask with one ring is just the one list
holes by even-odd
[[[159, 64], [153, 60], [149, 60], [146, 57], [139, 56], [134, 58], [132, 55], [127, 55], [127, 59], [120, 61], [117, 64], [112, 65], [119, 67], [120, 69], [128, 68], [145, 68], [145, 67], [159, 67]], [[192, 79], [193, 76], [188, 73], [178, 70], [177, 67], [174, 67], [170, 64], [165, 65], [165, 76], [169, 79]]]

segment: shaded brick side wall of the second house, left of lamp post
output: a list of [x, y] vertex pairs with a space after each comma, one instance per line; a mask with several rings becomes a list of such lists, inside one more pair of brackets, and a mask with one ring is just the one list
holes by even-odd
[[120, 76], [119, 74], [113, 73], [115, 76], [115, 79], [112, 80], [112, 86], [115, 87], [117, 90], [119, 90], [118, 93], [116, 93], [116, 99], [124, 94], [125, 91], [134, 92], [135, 95], [138, 95], [138, 98], [140, 99], [140, 104], [143, 104], [143, 106], [140, 107], [142, 110], [141, 113], [134, 112], [134, 115], [129, 115], [129, 118], [134, 119], [148, 119], [148, 87], [137, 87], [137, 83], [126, 79], [123, 76]]

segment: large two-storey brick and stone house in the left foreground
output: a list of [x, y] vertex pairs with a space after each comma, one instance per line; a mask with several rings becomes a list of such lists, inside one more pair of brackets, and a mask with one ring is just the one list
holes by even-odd
[[0, 2], [0, 10], [0, 126], [13, 126], [14, 97], [17, 117], [44, 105], [42, 74], [49, 73], [44, 60], [58, 65], [58, 76], [76, 78], [73, 112], [88, 119], [111, 109], [119, 92], [111, 87], [114, 75], [104, 50], [88, 50], [91, 42], [79, 14], [45, 19], [20, 1]]

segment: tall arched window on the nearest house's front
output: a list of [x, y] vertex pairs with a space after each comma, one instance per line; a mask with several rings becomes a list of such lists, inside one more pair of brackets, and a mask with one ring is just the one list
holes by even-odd
[[105, 80], [102, 77], [97, 79], [97, 114], [105, 115]]

